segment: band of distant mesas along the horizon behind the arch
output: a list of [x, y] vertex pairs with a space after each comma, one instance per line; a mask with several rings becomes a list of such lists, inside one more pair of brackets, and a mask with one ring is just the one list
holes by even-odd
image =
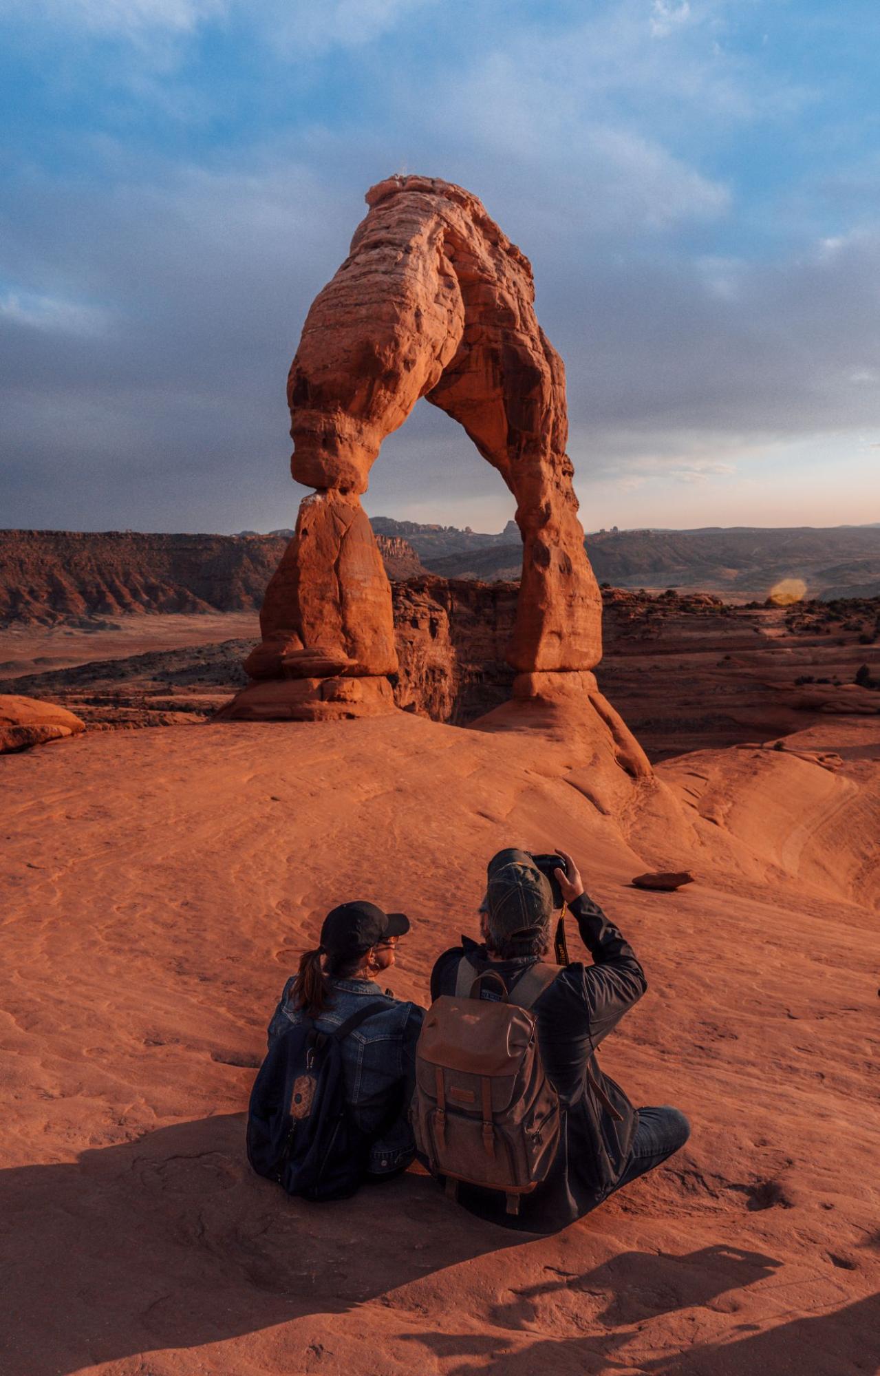
[[[370, 522], [392, 581], [422, 577], [517, 582], [518, 527], [494, 534], [374, 516]], [[238, 535], [139, 531], [0, 530], [0, 626], [77, 622], [143, 612], [254, 611], [292, 539], [290, 530]], [[403, 544], [402, 544], [403, 542]], [[807, 600], [880, 596], [880, 527], [828, 530], [622, 530], [613, 541], [586, 535], [593, 570], [606, 589], [674, 586], [725, 601], [759, 601], [788, 577]]]

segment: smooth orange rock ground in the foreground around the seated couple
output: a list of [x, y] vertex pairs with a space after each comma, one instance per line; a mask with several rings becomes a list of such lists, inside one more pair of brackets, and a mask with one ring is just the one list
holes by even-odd
[[[880, 739], [803, 738], [843, 766], [700, 751], [616, 816], [573, 747], [404, 714], [4, 757], [0, 1369], [874, 1372]], [[688, 1148], [542, 1240], [412, 1172], [287, 1200], [243, 1110], [298, 949], [340, 899], [403, 908], [392, 982], [424, 999], [503, 843], [571, 849], [631, 938], [649, 992], [602, 1064]]]

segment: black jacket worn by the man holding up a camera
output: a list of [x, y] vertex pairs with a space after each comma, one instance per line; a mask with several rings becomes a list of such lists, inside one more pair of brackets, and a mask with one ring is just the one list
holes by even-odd
[[[551, 1233], [587, 1214], [608, 1194], [627, 1164], [638, 1113], [619, 1084], [598, 1068], [595, 1049], [617, 1025], [627, 1009], [641, 999], [646, 980], [635, 954], [600, 908], [586, 894], [571, 904], [580, 938], [594, 965], [569, 965], [534, 1006], [538, 1042], [547, 1079], [560, 1095], [564, 1127], [557, 1159], [547, 1179], [522, 1196], [520, 1214], [505, 1212], [505, 1196], [461, 1185], [459, 1201], [473, 1214], [506, 1227]], [[485, 947], [462, 937], [436, 962], [430, 996], [455, 992], [458, 966], [466, 956], [474, 978], [492, 969], [507, 989], [534, 965], [532, 960], [490, 960]], [[481, 998], [492, 995], [491, 981]], [[590, 1087], [587, 1071], [622, 1115], [617, 1123]]]

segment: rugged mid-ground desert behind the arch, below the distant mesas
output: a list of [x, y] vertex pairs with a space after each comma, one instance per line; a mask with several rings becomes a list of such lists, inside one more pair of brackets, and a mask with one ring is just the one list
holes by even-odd
[[[16, 533], [0, 533], [0, 549], [4, 535], [8, 548]], [[280, 557], [286, 542], [275, 544]], [[411, 575], [418, 556], [400, 538], [397, 546], [385, 556], [399, 656], [395, 702], [466, 725], [510, 695], [505, 649], [518, 582], [446, 579], [425, 568]], [[60, 575], [50, 550], [43, 577], [51, 581], [56, 568]], [[154, 585], [155, 572], [142, 572]], [[94, 583], [65, 577], [74, 611], [33, 596], [28, 615], [0, 623], [0, 692], [51, 698], [106, 729], [205, 722], [246, 685], [242, 663], [260, 636], [253, 607], [268, 571], [263, 585], [254, 578], [242, 592], [236, 610], [177, 614], [146, 596], [138, 612], [111, 611], [103, 582], [95, 596]], [[186, 596], [179, 586], [173, 593]], [[732, 604], [707, 593], [604, 588], [597, 677], [653, 761], [773, 740], [829, 714], [880, 713], [880, 695], [857, 681], [880, 680], [879, 625], [880, 597]]]

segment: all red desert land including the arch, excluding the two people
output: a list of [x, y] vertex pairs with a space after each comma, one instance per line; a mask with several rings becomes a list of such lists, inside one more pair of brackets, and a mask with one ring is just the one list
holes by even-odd
[[[293, 534], [4, 535], [3, 1369], [874, 1372], [880, 600], [600, 589], [528, 260], [450, 183], [367, 202], [290, 374]], [[426, 392], [517, 493], [517, 581], [377, 542], [359, 495]], [[425, 1003], [506, 845], [572, 852], [632, 943], [602, 1065], [686, 1148], [547, 1237], [419, 1167], [323, 1205], [256, 1176], [327, 908], [407, 912]]]

